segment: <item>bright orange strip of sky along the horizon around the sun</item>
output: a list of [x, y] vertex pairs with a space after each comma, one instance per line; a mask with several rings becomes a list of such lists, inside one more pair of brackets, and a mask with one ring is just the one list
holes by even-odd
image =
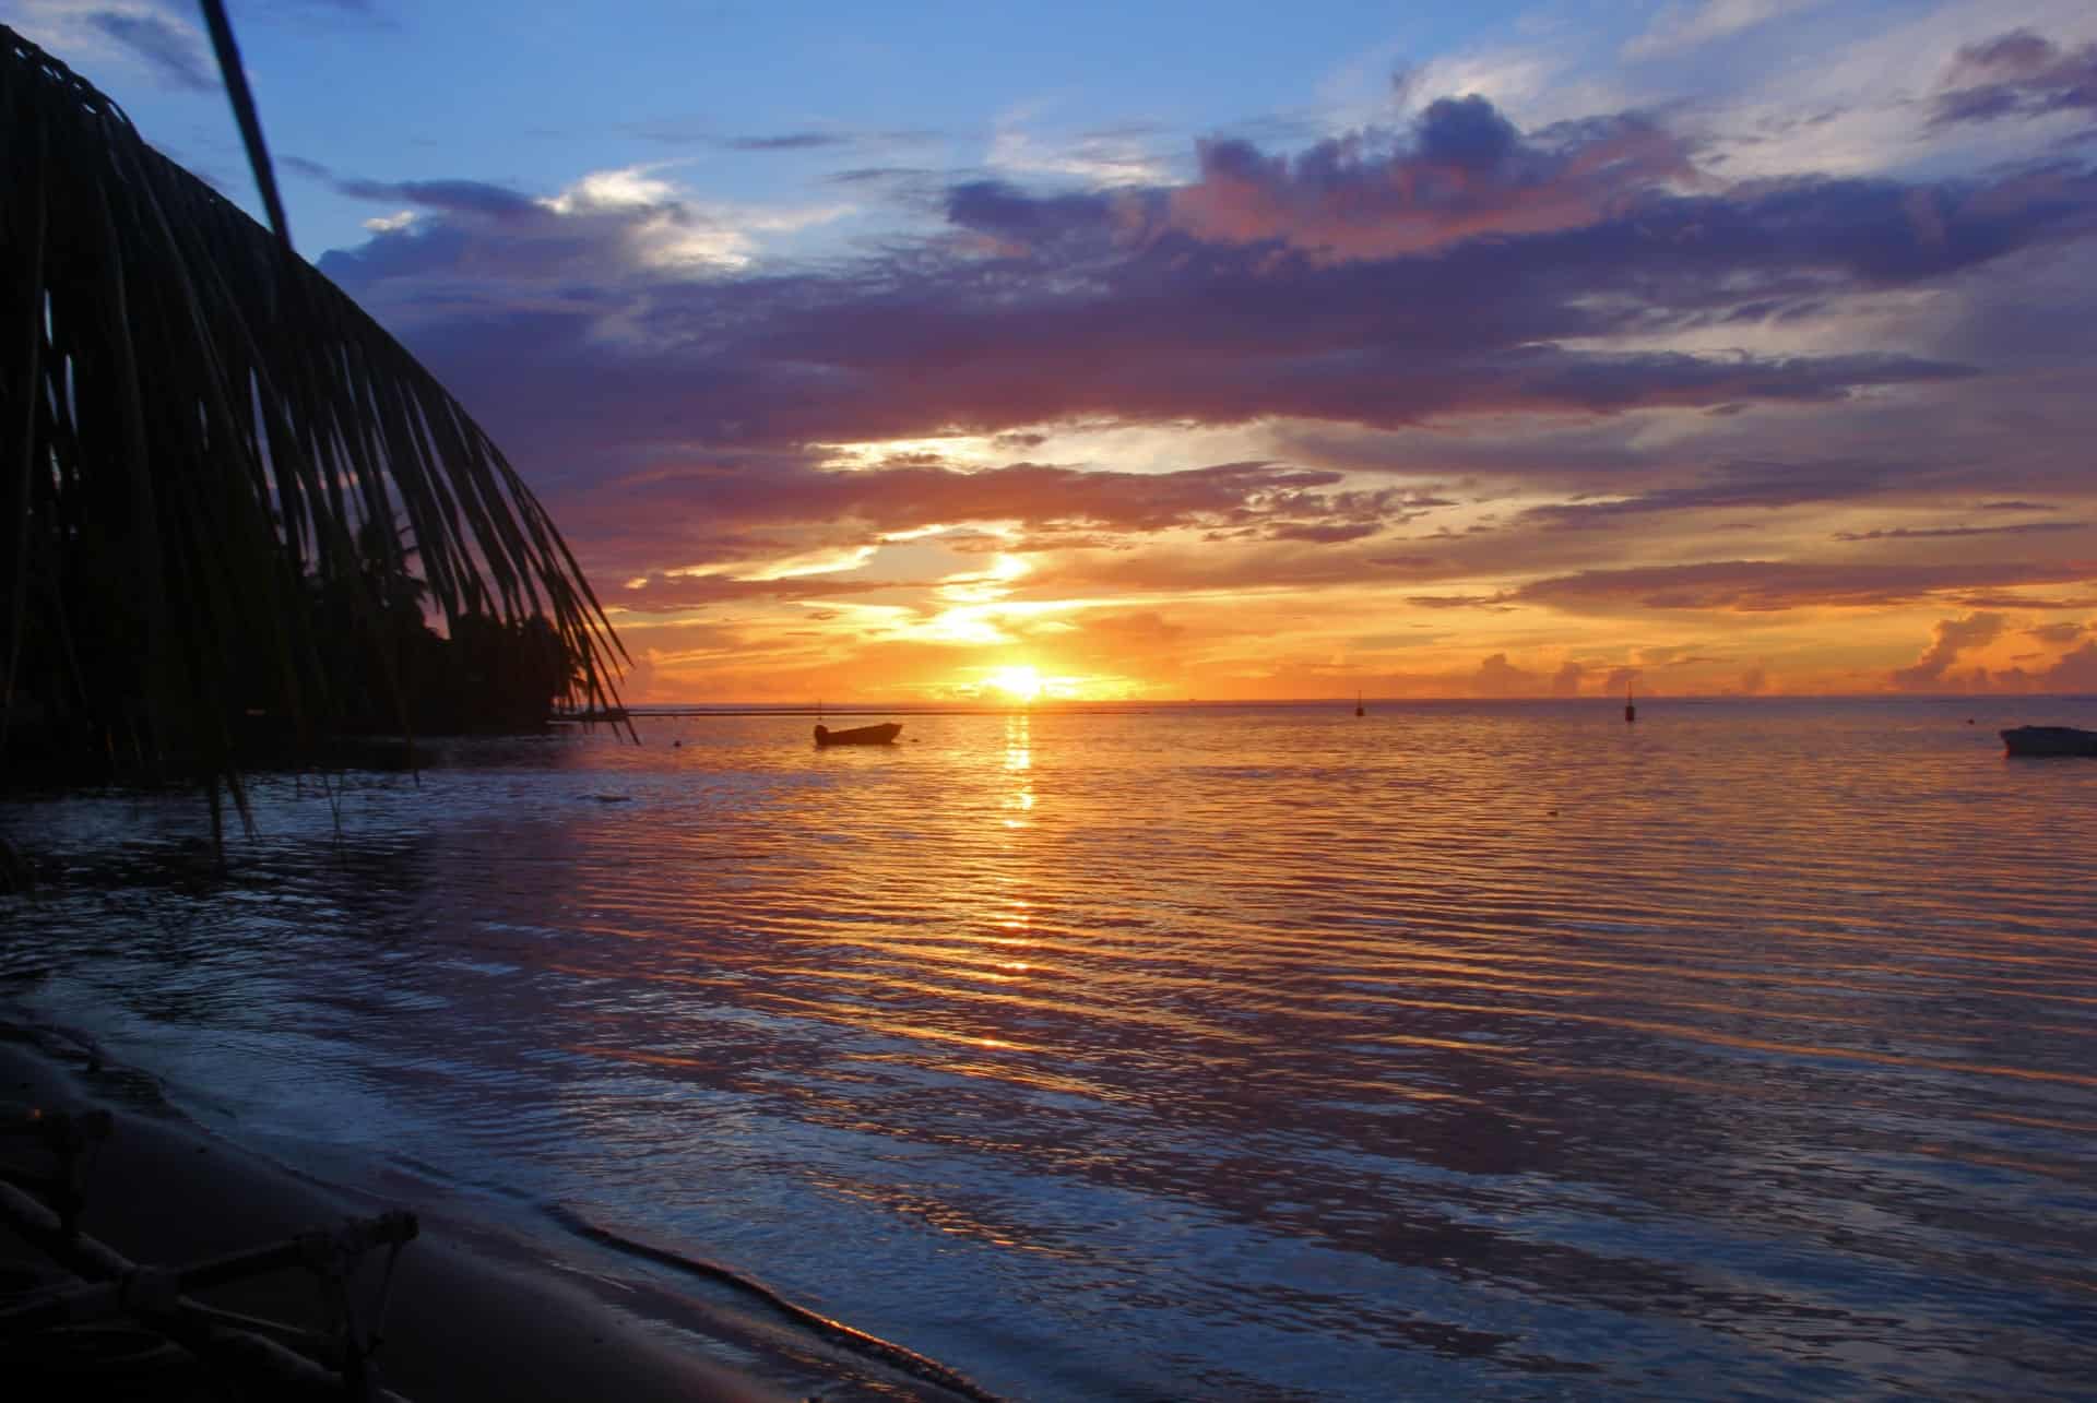
[[[1539, 585], [1495, 573], [1489, 560], [1432, 585], [1315, 562], [1317, 577], [1281, 585], [1264, 575], [1292, 566], [1264, 541], [1187, 554], [1183, 541], [1107, 549], [1084, 537], [1023, 560], [1002, 543], [988, 528], [952, 526], [885, 543], [858, 570], [780, 575], [818, 554], [820, 543], [807, 543], [768, 556], [763, 570], [744, 568], [772, 581], [652, 581], [637, 593], [694, 593], [677, 606], [646, 608], [640, 598], [612, 606], [637, 663], [621, 694], [642, 705], [828, 698], [1019, 709], [1357, 694], [1621, 705], [1631, 682], [1640, 696], [2017, 696], [2097, 686], [2097, 602], [2080, 587], [1829, 602], [1818, 591], [1843, 577], [1822, 583], [1787, 562], [1621, 570], [1569, 562]], [[1797, 541], [1801, 554], [1812, 547]], [[1258, 579], [1237, 579], [1237, 568]], [[1873, 570], [1887, 568], [1868, 562], [1858, 579], [1871, 585]]]

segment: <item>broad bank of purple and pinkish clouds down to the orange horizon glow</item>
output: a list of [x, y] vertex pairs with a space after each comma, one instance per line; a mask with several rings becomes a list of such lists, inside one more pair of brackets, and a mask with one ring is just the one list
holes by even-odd
[[[1548, 528], [1646, 528], [1860, 497], [1923, 501], [1957, 522], [1952, 512], [2026, 510], [2015, 493], [2057, 487], [2076, 499], [2080, 457], [2063, 453], [2078, 411], [2061, 401], [2049, 419], [2045, 405], [2013, 403], [2022, 382], [2003, 377], [1980, 394], [1994, 352], [1944, 350], [1965, 323], [1873, 340], [1877, 323], [1860, 319], [1856, 333], [1812, 342], [1841, 350], [1812, 354], [1711, 346], [1797, 344], [1787, 342], [1793, 323], [1824, 325], [1845, 300], [1883, 292], [1965, 306], [1975, 287], [2003, 285], [1996, 266], [2047, 264], [2097, 229], [2097, 176], [2082, 166], [1720, 189], [1650, 117], [1525, 134], [1483, 99], [1436, 103], [1403, 136], [1298, 155], [1216, 141], [1197, 155], [1197, 178], [1181, 187], [948, 185], [912, 203], [944, 216], [939, 233], [809, 266], [663, 258], [665, 231], [734, 231], [654, 180], [644, 199], [627, 191], [593, 203], [575, 191], [539, 199], [476, 180], [317, 172], [421, 214], [329, 254], [323, 271], [491, 424], [577, 522], [591, 562], [617, 562], [621, 577], [1000, 520], [1021, 535], [998, 549], [1017, 552], [1164, 531], [1229, 543], [1199, 554], [1151, 543], [1086, 560], [1082, 579], [1048, 564], [1028, 577], [1034, 591], [1491, 581], [1516, 554], [1525, 573], [1556, 575], [1510, 604], [1573, 610], [1864, 604], [2072, 579], [2030, 562], [1921, 575], [1753, 560], [1583, 570], [1623, 556]], [[923, 185], [923, 172], [895, 178]], [[1678, 331], [1696, 331], [1699, 350], [1669, 348]], [[2072, 365], [2066, 344], [2045, 354]], [[1650, 419], [1631, 417], [1652, 409], [1713, 417], [1696, 419], [1694, 438], [1657, 447], [1634, 432]], [[1793, 451], [1787, 428], [1803, 409], [1824, 411], [1812, 455]], [[1074, 422], [1258, 424], [1285, 445], [1262, 453], [1329, 453], [1302, 455], [1317, 466], [1183, 474], [1040, 461], [960, 472], [935, 455], [822, 470], [822, 445], [948, 430], [1004, 436], [1021, 457], [1040, 447], [1042, 426]], [[1957, 440], [1923, 426], [1952, 426]], [[1982, 468], [2011, 432], [2019, 443], [2051, 434], [2059, 466], [2047, 459], [2013, 480]], [[1348, 447], [1401, 440], [1386, 461]], [[1069, 453], [1061, 436], [1057, 453]], [[1350, 497], [1342, 470], [1443, 487]], [[1487, 487], [1468, 487], [1474, 478]], [[1514, 482], [1590, 499], [1474, 514], [1428, 537], [1432, 556], [1376, 539], [1430, 505]], [[705, 522], [707, 537], [684, 522]], [[2080, 528], [1852, 535], [1919, 545]], [[791, 581], [757, 585], [778, 593]], [[713, 589], [690, 585], [692, 596]], [[652, 600], [656, 585], [644, 593]], [[1497, 593], [1476, 598], [1504, 606]]]

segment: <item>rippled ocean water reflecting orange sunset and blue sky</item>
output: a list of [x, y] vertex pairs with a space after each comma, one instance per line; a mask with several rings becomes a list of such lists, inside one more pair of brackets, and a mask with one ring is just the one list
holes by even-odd
[[459, 742], [260, 780], [224, 881], [15, 801], [0, 975], [1004, 1397], [2089, 1397], [2097, 761], [1994, 730], [2097, 703], [1350, 711]]

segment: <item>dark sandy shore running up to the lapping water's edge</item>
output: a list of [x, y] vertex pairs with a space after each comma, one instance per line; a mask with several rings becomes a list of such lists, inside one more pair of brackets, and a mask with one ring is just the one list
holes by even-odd
[[[166, 1099], [151, 1103], [138, 1095], [143, 1080], [138, 1070], [73, 1051], [59, 1030], [0, 1015], [0, 1103], [113, 1111], [115, 1128], [88, 1162], [80, 1227], [138, 1265], [178, 1267], [336, 1227], [346, 1216], [413, 1210], [421, 1233], [401, 1252], [377, 1353], [380, 1382], [411, 1403], [963, 1397], [757, 1309], [619, 1277], [587, 1260], [547, 1258], [501, 1225], [459, 1212], [442, 1193], [413, 1202], [421, 1191], [413, 1183], [403, 1185], [407, 1202], [325, 1183], [216, 1135]], [[10, 1166], [50, 1166], [48, 1156], [0, 1153]], [[0, 1271], [59, 1275], [4, 1223]], [[359, 1302], [369, 1302], [377, 1269], [367, 1265], [359, 1286]], [[319, 1288], [306, 1271], [216, 1288], [206, 1298], [247, 1315], [319, 1323]], [[4, 1348], [17, 1355], [23, 1344]], [[78, 1386], [94, 1376], [67, 1378]], [[48, 1382], [48, 1397], [71, 1397], [57, 1376]], [[31, 1386], [23, 1397], [34, 1403], [42, 1395]]]

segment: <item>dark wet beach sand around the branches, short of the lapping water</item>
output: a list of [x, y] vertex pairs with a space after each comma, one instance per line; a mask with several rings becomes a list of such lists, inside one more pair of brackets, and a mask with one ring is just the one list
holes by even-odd
[[[820, 1376], [793, 1378], [793, 1386], [759, 1378], [747, 1321], [723, 1315], [717, 1321], [721, 1338], [707, 1340], [692, 1332], [692, 1319], [673, 1328], [612, 1309], [593, 1294], [549, 1277], [545, 1269], [501, 1260], [499, 1254], [480, 1250], [480, 1244], [466, 1246], [476, 1237], [470, 1225], [430, 1214], [413, 1202], [377, 1204], [306, 1181], [178, 1116], [96, 1095], [96, 1078], [84, 1076], [86, 1057], [78, 1059], [80, 1065], [67, 1065], [69, 1059], [36, 1046], [19, 1030], [0, 1030], [0, 1036], [6, 1038], [0, 1040], [0, 1103], [46, 1111], [115, 1111], [115, 1130], [96, 1151], [86, 1181], [80, 1227], [132, 1262], [185, 1265], [333, 1227], [346, 1216], [369, 1216], [384, 1208], [417, 1210], [421, 1235], [401, 1254], [377, 1355], [380, 1380], [405, 1399], [778, 1403], [816, 1390], [833, 1395], [826, 1384], [837, 1380]], [[42, 1172], [50, 1168], [50, 1158], [29, 1145], [10, 1145], [0, 1153], [15, 1166]], [[57, 1279], [57, 1267], [0, 1225], [0, 1275], [21, 1288], [31, 1275]], [[367, 1262], [361, 1277], [363, 1300], [371, 1300], [375, 1283], [377, 1262]], [[321, 1315], [317, 1281], [298, 1269], [220, 1288], [203, 1300], [308, 1325], [317, 1325]], [[692, 1309], [690, 1302], [686, 1307]], [[122, 1344], [124, 1336], [111, 1334], [109, 1340]], [[17, 1342], [8, 1348], [23, 1346]], [[744, 1367], [707, 1357], [709, 1348], [728, 1359], [742, 1355], [738, 1363]], [[805, 1369], [780, 1369], [774, 1361], [770, 1372]], [[210, 1386], [210, 1378], [199, 1380], [178, 1359], [164, 1374], [143, 1390], [134, 1380], [128, 1397], [222, 1397]], [[69, 1384], [52, 1380], [46, 1393], [31, 1388], [21, 1395], [10, 1386], [8, 1397], [23, 1403], [38, 1397], [80, 1397], [80, 1386], [78, 1378]], [[845, 1393], [866, 1397], [864, 1386]], [[898, 1384], [891, 1393], [877, 1384], [874, 1393], [912, 1397], [918, 1390]]]

